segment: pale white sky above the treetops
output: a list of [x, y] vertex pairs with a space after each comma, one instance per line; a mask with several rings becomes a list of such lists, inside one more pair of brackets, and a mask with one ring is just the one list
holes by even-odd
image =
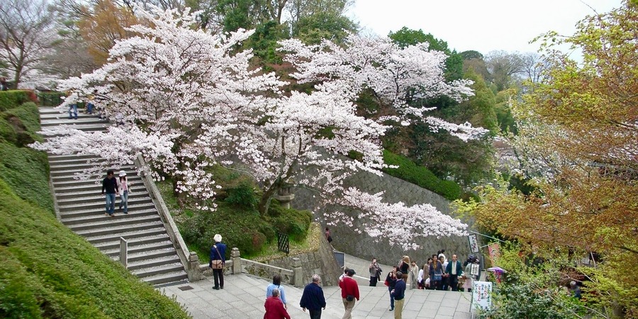
[[576, 22], [594, 13], [589, 6], [605, 13], [621, 5], [621, 0], [356, 0], [349, 13], [371, 33], [422, 29], [451, 50], [485, 55], [536, 52], [539, 43], [530, 40], [549, 30], [573, 34]]

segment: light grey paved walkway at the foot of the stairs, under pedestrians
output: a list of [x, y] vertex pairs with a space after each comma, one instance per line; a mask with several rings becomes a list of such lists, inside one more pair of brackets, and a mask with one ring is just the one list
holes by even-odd
[[[366, 261], [347, 256], [347, 267], [351, 267], [357, 274], [366, 274]], [[391, 267], [381, 265], [386, 269]], [[390, 311], [389, 292], [383, 283], [370, 287], [358, 278], [361, 300], [354, 306], [352, 318], [394, 318]], [[261, 319], [264, 317], [264, 301], [266, 300], [266, 286], [270, 282], [266, 279], [247, 274], [227, 275], [223, 290], [213, 290], [213, 279], [160, 288], [167, 296], [174, 296], [177, 302], [184, 304], [194, 318], [233, 318], [233, 319]], [[303, 289], [283, 285], [288, 299], [288, 312], [291, 318], [309, 318], [299, 307], [299, 300]], [[181, 290], [184, 288], [192, 289]], [[322, 318], [338, 319], [343, 315], [343, 303], [339, 287], [323, 287], [328, 305], [323, 310]], [[469, 319], [470, 293], [455, 291], [410, 290], [405, 292], [405, 307], [403, 318], [441, 318], [441, 319]]]

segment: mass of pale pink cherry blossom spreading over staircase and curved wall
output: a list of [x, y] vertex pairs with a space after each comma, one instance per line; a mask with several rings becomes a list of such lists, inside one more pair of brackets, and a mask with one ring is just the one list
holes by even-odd
[[[421, 116], [427, 108], [410, 106], [406, 101], [406, 91], [410, 96], [444, 94], [455, 99], [471, 94], [467, 82], [444, 83], [444, 55], [422, 46], [399, 49], [384, 39], [357, 42], [354, 36], [349, 49], [333, 45], [333, 55], [284, 42], [284, 50], [291, 52], [289, 59], [296, 61], [299, 70], [294, 76], [315, 82], [309, 92], [284, 94], [290, 87], [286, 82], [272, 73], [251, 69], [250, 50], [237, 51], [252, 31], [238, 30], [219, 37], [190, 28], [196, 24], [196, 13], [137, 12], [142, 21], [150, 22], [148, 26], [131, 27], [137, 35], [118, 42], [100, 69], [60, 84], [60, 89], [72, 91], [61, 111], [69, 103], [98, 94], [97, 106], [118, 114], [123, 124], [108, 128], [106, 133], [82, 133], [69, 127], [48, 130], [45, 134], [52, 138], [34, 147], [56, 154], [101, 155], [106, 162], [95, 169], [132, 162], [142, 155], [155, 168], [156, 179], [169, 174], [179, 193], [200, 198], [200, 207], [211, 211], [216, 185], [210, 168], [220, 164], [254, 177], [261, 186], [262, 215], [274, 194], [294, 179], [297, 186], [317, 189], [326, 202], [359, 208], [370, 220], [359, 231], [391, 237], [393, 243], [406, 249], [418, 247], [412, 240], [415, 235], [432, 235], [440, 229], [433, 230], [428, 224], [449, 228], [446, 235], [464, 233], [466, 225], [427, 204], [405, 207], [403, 203], [383, 203], [381, 194], [343, 186], [344, 179], [357, 171], [381, 174], [385, 164], [380, 138], [390, 128], [388, 119], [408, 125], [420, 116], [463, 139], [481, 133], [480, 128], [428, 119]], [[370, 61], [362, 70], [357, 67], [358, 55], [372, 53], [366, 47], [374, 47], [374, 41], [386, 47], [376, 57], [391, 57]], [[422, 63], [413, 62], [416, 57]], [[330, 69], [331, 58], [342, 61], [341, 66]], [[313, 61], [315, 65], [305, 64]], [[320, 74], [331, 76], [322, 78]], [[386, 118], [357, 115], [354, 101], [366, 86], [374, 87], [379, 100], [396, 112]], [[347, 155], [353, 151], [361, 156], [349, 159]], [[84, 176], [94, 173], [84, 172]], [[379, 221], [390, 215], [388, 212], [413, 220], [415, 227], [396, 230], [381, 226]]]

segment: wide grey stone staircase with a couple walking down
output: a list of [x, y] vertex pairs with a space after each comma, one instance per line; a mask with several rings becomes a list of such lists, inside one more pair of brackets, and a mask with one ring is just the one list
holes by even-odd
[[[68, 113], [54, 108], [40, 108], [43, 128], [70, 124], [79, 130], [106, 130], [108, 122], [97, 116], [79, 113], [77, 120], [67, 119]], [[187, 279], [184, 264], [164, 228], [155, 204], [138, 176], [135, 167], [116, 167], [124, 170], [131, 193], [128, 197], [128, 214], [118, 210], [116, 216], [105, 216], [105, 201], [101, 196], [103, 176], [89, 180], [77, 180], [74, 173], [91, 167], [89, 155], [49, 155], [50, 179], [59, 219], [74, 233], [83, 236], [113, 260], [119, 260], [120, 237], [128, 241], [128, 269], [142, 281], [153, 285], [178, 283]], [[106, 174], [104, 172], [103, 174]], [[99, 180], [99, 181], [98, 181]]]

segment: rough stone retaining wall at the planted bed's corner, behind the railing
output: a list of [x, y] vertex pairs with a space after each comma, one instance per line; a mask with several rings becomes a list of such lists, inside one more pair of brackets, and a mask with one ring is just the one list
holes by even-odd
[[335, 254], [332, 253], [332, 247], [328, 240], [325, 240], [325, 237], [320, 235], [319, 242], [318, 250], [272, 259], [265, 263], [276, 267], [289, 268], [293, 264], [293, 259], [299, 259], [301, 261], [301, 269], [303, 269], [303, 283], [308, 284], [312, 281], [313, 274], [318, 274], [321, 276], [323, 286], [337, 286], [342, 271], [337, 264]]

